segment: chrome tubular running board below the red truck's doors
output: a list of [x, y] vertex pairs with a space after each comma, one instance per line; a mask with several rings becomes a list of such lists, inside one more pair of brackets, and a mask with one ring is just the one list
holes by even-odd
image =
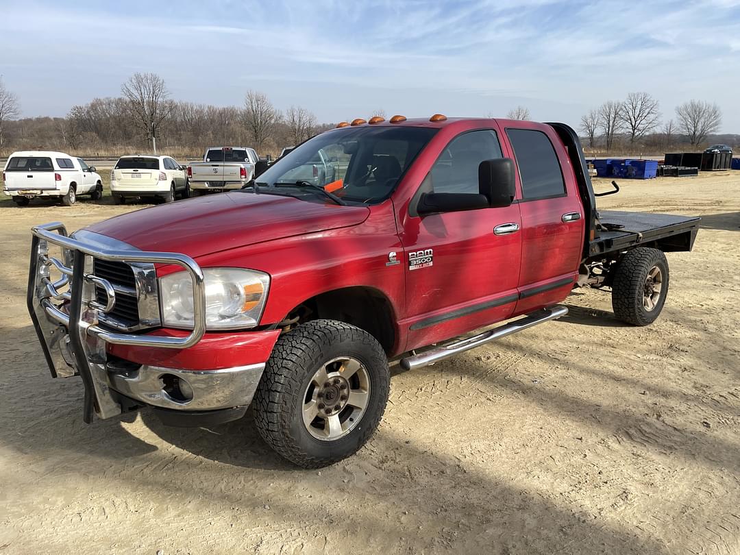
[[454, 357], [456, 354], [480, 347], [485, 343], [522, 332], [522, 330], [531, 328], [537, 324], [556, 320], [561, 316], [565, 316], [565, 314], [568, 314], [568, 309], [565, 306], [552, 306], [549, 309], [531, 312], [531, 314], [527, 314], [519, 320], [514, 320], [514, 322], [504, 324], [496, 329], [490, 329], [488, 332], [482, 332], [473, 337], [464, 337], [445, 346], [434, 347], [428, 351], [413, 354], [410, 357], [403, 357], [400, 360], [400, 366], [404, 370], [413, 370], [427, 366], [428, 364], [437, 363], [445, 358]]

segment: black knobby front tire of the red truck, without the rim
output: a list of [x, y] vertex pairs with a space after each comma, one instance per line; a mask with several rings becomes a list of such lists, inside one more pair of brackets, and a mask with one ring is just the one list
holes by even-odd
[[[346, 435], [318, 440], [303, 423], [304, 396], [317, 369], [336, 357], [363, 364], [371, 384], [369, 400]], [[388, 358], [371, 334], [336, 320], [312, 320], [277, 340], [252, 403], [255, 425], [282, 457], [303, 468], [320, 468], [365, 445], [383, 417], [389, 389]]]

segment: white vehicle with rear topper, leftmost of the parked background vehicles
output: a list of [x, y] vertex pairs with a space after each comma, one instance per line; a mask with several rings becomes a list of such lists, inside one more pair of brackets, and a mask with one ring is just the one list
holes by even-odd
[[36, 197], [61, 198], [71, 206], [77, 195], [90, 195], [93, 201], [103, 196], [103, 182], [82, 158], [50, 150], [13, 152], [2, 172], [4, 192], [19, 206]]

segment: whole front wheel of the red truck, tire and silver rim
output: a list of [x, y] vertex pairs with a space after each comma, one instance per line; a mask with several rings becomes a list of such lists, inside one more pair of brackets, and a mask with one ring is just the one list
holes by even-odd
[[374, 337], [313, 320], [277, 340], [252, 403], [255, 425], [282, 457], [320, 468], [365, 445], [389, 388], [388, 359]]

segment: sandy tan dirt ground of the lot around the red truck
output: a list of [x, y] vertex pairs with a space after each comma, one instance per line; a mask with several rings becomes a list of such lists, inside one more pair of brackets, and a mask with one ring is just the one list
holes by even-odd
[[303, 471], [251, 417], [82, 423], [26, 312], [28, 230], [141, 206], [0, 201], [0, 554], [740, 554], [740, 172], [599, 206], [704, 218], [656, 323], [576, 292], [561, 320], [395, 375], [371, 443]]

